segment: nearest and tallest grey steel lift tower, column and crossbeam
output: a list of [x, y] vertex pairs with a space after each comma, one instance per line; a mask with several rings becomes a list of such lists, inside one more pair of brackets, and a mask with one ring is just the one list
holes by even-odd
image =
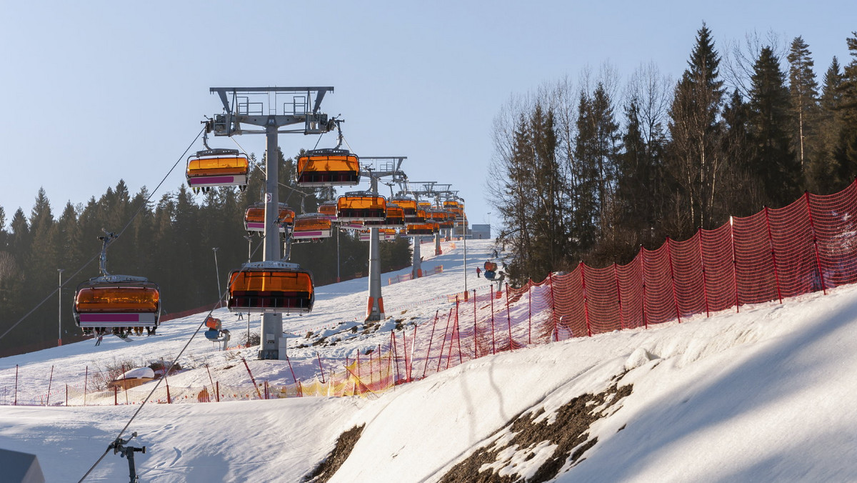
[[[263, 261], [282, 260], [279, 243], [279, 150], [280, 133], [321, 134], [335, 128], [327, 114], [319, 112], [325, 94], [333, 87], [289, 87], [289, 88], [210, 88], [217, 94], [223, 112], [207, 121], [215, 136], [240, 136], [264, 134], [265, 141], [265, 243]], [[244, 124], [261, 129], [246, 129]], [[303, 124], [303, 129], [281, 129], [285, 126]], [[272, 228], [273, 227], [273, 228]], [[288, 235], [286, 235], [288, 236]], [[259, 359], [285, 359], [285, 350], [280, 352], [283, 339], [283, 316], [279, 313], [263, 313], [261, 317]], [[285, 341], [285, 340], [284, 340]]]

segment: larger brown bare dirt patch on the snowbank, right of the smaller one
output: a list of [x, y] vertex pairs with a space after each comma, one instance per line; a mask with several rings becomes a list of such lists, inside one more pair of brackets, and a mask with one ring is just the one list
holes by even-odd
[[[617, 380], [619, 377], [616, 377]], [[530, 460], [539, 457], [542, 462], [536, 472], [525, 480], [526, 483], [542, 483], [553, 480], [568, 463], [576, 465], [584, 453], [598, 442], [598, 438], [589, 438], [589, 428], [596, 420], [610, 414], [609, 408], [631, 394], [632, 386], [617, 387], [614, 383], [599, 394], [580, 395], [559, 408], [550, 423], [547, 419], [535, 422], [544, 411], [519, 416], [499, 433], [511, 433], [510, 437], [500, 437], [487, 446], [459, 462], [446, 473], [440, 481], [455, 483], [468, 481], [473, 483], [513, 483], [524, 481], [524, 476], [510, 472], [510, 467], [527, 466]], [[552, 454], [545, 454], [554, 447]], [[529, 451], [521, 454], [521, 451]], [[512, 453], [517, 455], [512, 456]], [[538, 454], [537, 454], [538, 453]], [[515, 462], [511, 460], [515, 459]], [[499, 463], [499, 464], [498, 464]], [[495, 465], [488, 468], [488, 465]], [[496, 468], [506, 468], [506, 474], [500, 476]], [[569, 468], [570, 468], [569, 467]], [[512, 474], [510, 474], [512, 473]]]

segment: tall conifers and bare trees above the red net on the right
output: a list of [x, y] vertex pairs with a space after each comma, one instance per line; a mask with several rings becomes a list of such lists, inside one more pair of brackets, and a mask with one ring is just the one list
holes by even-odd
[[606, 67], [512, 98], [489, 178], [512, 279], [628, 263], [641, 245], [842, 190], [857, 175], [853, 34], [851, 62], [833, 57], [820, 85], [801, 37], [748, 37], [722, 63], [703, 24], [677, 82], [648, 65], [621, 89]]

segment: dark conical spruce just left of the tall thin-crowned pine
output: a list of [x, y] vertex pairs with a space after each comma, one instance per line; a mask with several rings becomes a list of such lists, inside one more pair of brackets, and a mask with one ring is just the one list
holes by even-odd
[[800, 164], [791, 149], [793, 111], [785, 74], [770, 47], [760, 52], [751, 82], [750, 172], [764, 187], [765, 204], [778, 208], [800, 196]]

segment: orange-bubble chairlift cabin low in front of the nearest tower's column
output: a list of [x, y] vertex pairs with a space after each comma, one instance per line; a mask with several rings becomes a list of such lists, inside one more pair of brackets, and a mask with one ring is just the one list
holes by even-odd
[[303, 313], [313, 310], [313, 275], [297, 263], [281, 261], [244, 263], [229, 274], [232, 312]]

